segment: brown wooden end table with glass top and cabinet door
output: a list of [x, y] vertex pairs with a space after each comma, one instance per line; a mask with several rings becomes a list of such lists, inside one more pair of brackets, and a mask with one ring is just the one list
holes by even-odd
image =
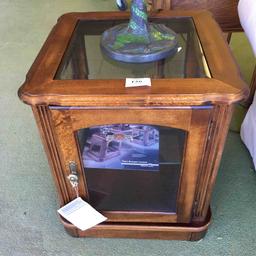
[[[31, 105], [60, 206], [79, 195], [108, 220], [73, 236], [198, 240], [236, 102], [248, 88], [208, 12], [153, 13], [178, 36], [171, 58], [127, 64], [100, 36], [128, 13], [69, 13], [53, 28], [19, 90]], [[125, 88], [127, 77], [151, 87]], [[86, 218], [86, 216], [85, 216]]]

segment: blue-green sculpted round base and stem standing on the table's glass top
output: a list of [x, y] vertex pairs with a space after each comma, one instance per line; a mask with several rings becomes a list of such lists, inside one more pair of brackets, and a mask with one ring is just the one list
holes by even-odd
[[170, 28], [148, 22], [145, 0], [132, 0], [129, 23], [106, 30], [102, 35], [101, 48], [112, 59], [143, 63], [175, 54], [177, 40]]

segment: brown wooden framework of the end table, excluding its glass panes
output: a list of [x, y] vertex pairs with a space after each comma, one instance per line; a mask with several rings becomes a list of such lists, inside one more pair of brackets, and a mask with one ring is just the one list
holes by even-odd
[[[128, 13], [120, 12], [63, 15], [48, 36], [18, 94], [34, 112], [60, 206], [75, 198], [67, 180], [68, 161], [80, 163], [79, 175], [84, 176], [74, 136], [79, 128], [105, 124], [106, 118], [115, 113], [112, 117], [115, 123], [168, 124], [187, 130], [188, 145], [198, 146], [188, 146], [190, 154], [186, 154], [183, 163], [185, 171], [180, 181], [176, 216], [164, 217], [163, 221], [162, 214], [108, 212], [108, 222], [87, 231], [61, 220], [73, 236], [198, 240], [209, 226], [210, 197], [233, 106], [248, 96], [248, 88], [221, 30], [205, 11], [162, 11], [152, 13], [152, 17], [193, 18], [211, 78], [155, 78], [150, 88], [128, 89], [124, 87], [123, 79], [86, 80], [84, 75], [82, 80], [78, 77], [74, 80], [54, 79], [78, 20], [115, 20], [128, 16]], [[84, 56], [82, 49], [81, 56]], [[86, 66], [86, 61], [82, 60], [81, 70]], [[101, 114], [98, 117], [95, 113]], [[87, 198], [84, 177], [79, 183], [79, 193]]]

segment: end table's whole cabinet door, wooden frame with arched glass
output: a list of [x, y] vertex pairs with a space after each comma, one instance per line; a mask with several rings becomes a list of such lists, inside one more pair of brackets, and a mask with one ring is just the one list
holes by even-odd
[[75, 162], [79, 195], [109, 222], [191, 221], [211, 106], [50, 109], [64, 203]]

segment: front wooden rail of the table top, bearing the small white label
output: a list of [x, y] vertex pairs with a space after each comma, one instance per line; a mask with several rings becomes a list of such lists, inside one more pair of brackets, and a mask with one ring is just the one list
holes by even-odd
[[[203, 105], [209, 102], [234, 103], [244, 99], [248, 88], [239, 90], [215, 79], [152, 80], [151, 88], [125, 88], [124, 80], [54, 81], [48, 94], [42, 95], [39, 85], [20, 97], [25, 103], [59, 106], [171, 106]], [[47, 87], [50, 87], [47, 86]], [[93, 94], [89, 94], [93, 92]], [[160, 93], [161, 92], [161, 93]], [[22, 95], [21, 95], [22, 94]]]

